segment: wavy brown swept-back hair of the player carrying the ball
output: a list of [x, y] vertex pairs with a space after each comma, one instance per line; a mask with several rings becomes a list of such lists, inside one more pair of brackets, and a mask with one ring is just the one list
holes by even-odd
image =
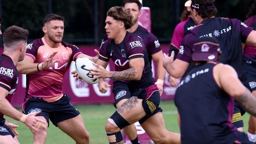
[[130, 13], [130, 11], [126, 10], [124, 7], [119, 7], [119, 6], [111, 7], [108, 10], [107, 16], [113, 17], [115, 20], [120, 20], [124, 22], [124, 26], [126, 30], [131, 28], [134, 25], [132, 20], [133, 18], [132, 14]]

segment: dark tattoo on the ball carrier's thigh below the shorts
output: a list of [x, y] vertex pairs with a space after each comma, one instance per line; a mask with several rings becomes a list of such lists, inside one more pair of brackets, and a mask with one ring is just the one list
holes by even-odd
[[122, 105], [117, 109], [117, 113], [119, 114], [127, 114], [135, 107], [135, 105], [139, 103], [137, 96], [132, 96], [127, 101], [122, 103]]

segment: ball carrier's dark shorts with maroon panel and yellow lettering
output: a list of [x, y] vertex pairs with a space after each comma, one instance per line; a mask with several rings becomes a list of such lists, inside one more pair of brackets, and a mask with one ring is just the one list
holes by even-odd
[[140, 124], [145, 122], [145, 120], [147, 120], [150, 116], [163, 111], [160, 107], [160, 93], [155, 84], [145, 89], [135, 90], [131, 96], [137, 96], [139, 99], [143, 100], [142, 106], [146, 116], [139, 120]]

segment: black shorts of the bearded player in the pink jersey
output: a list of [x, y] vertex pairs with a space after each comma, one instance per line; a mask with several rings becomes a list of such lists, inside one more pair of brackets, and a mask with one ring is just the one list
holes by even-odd
[[42, 98], [33, 97], [23, 103], [23, 107], [25, 108], [23, 113], [28, 114], [41, 111], [37, 116], [45, 117], [48, 124], [50, 119], [52, 124], [57, 127], [58, 122], [74, 118], [80, 114], [69, 102], [70, 97], [67, 94], [64, 94], [63, 97], [56, 102], [46, 102]]

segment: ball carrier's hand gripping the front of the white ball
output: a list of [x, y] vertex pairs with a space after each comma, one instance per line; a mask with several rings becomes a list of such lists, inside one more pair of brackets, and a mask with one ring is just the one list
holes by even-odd
[[93, 63], [94, 66], [96, 66], [97, 69], [93, 69], [90, 68], [90, 75], [95, 75], [94, 78], [92, 78], [91, 80], [97, 79], [97, 78], [109, 78], [110, 77], [110, 72], [108, 70], [106, 70], [104, 67], [102, 67], [101, 65], [97, 65], [96, 63]]

